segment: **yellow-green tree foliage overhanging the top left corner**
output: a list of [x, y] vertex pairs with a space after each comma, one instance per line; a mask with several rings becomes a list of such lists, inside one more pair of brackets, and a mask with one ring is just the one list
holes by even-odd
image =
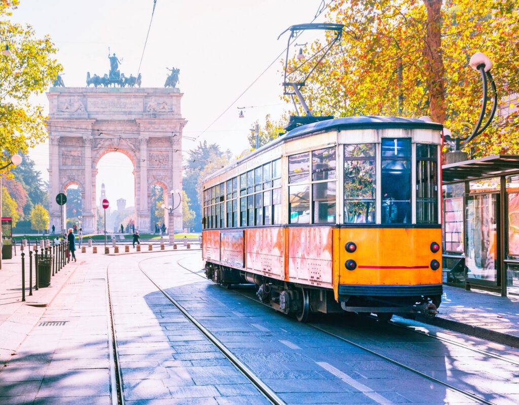
[[0, 37], [12, 55], [0, 55], [0, 166], [46, 139], [43, 106], [33, 105], [30, 97], [44, 92], [62, 69], [48, 36], [38, 38], [30, 25], [9, 21], [18, 4], [0, 3]]

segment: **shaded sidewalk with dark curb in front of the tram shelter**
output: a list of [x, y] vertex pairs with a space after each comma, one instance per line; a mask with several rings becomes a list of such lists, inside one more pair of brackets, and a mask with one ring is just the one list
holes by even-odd
[[519, 297], [443, 286], [439, 314], [417, 320], [478, 338], [519, 347]]

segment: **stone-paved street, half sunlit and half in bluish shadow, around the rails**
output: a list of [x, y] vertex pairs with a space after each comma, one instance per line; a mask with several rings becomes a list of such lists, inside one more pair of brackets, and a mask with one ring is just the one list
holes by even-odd
[[[85, 260], [0, 371], [0, 403], [111, 403], [107, 268], [126, 403], [268, 403], [139, 264], [286, 403], [477, 403], [267, 308], [250, 299], [250, 287], [213, 284], [203, 278], [199, 251], [87, 254]], [[198, 274], [182, 269], [179, 260]], [[514, 348], [438, 326], [398, 323], [454, 343], [356, 316], [318, 317], [312, 325], [493, 403], [519, 403]]]

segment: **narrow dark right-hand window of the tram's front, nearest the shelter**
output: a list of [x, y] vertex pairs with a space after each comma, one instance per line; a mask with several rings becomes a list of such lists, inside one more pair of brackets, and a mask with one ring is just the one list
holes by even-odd
[[416, 223], [438, 224], [438, 145], [416, 145]]

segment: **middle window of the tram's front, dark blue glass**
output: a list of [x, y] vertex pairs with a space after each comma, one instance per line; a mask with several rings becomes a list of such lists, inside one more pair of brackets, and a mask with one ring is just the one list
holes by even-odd
[[384, 138], [381, 147], [381, 223], [411, 224], [411, 138]]

